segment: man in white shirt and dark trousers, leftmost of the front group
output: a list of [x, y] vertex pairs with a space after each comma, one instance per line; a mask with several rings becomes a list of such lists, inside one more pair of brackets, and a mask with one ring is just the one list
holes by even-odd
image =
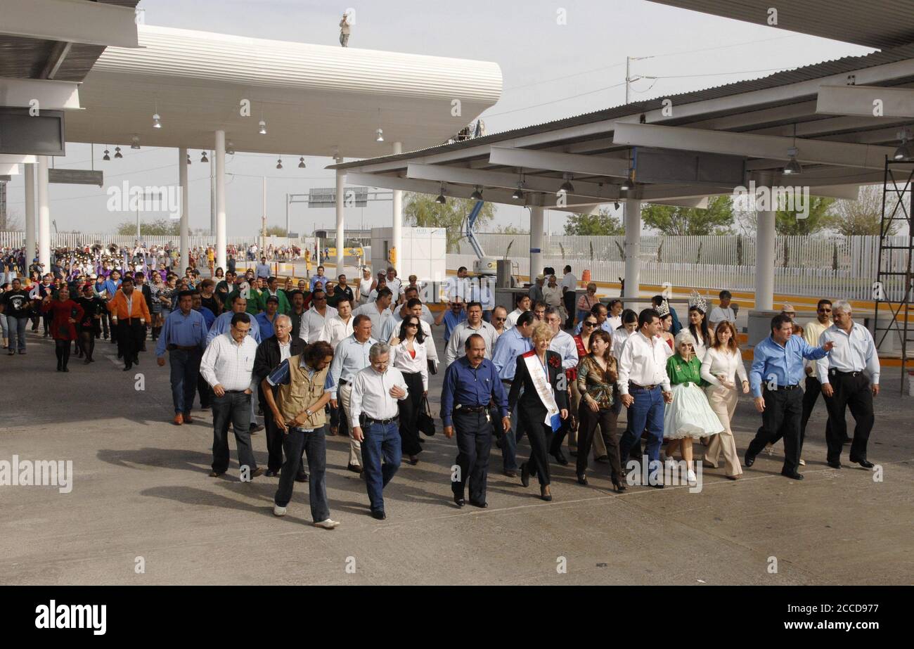
[[210, 341], [200, 361], [200, 373], [213, 388], [213, 470], [210, 477], [228, 471], [228, 424], [235, 431], [241, 480], [248, 482], [263, 473], [250, 447], [250, 394], [253, 387], [257, 343], [248, 335], [251, 317], [231, 316], [228, 334]]

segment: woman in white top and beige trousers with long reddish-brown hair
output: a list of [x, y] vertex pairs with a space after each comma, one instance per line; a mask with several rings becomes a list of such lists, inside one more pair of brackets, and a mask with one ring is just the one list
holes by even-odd
[[[705, 451], [705, 463], [717, 468], [720, 453], [724, 453], [726, 467], [724, 475], [730, 480], [738, 480], [742, 475], [737, 454], [737, 442], [730, 430], [730, 420], [737, 409], [739, 388], [743, 394], [749, 394], [749, 378], [743, 366], [742, 354], [737, 345], [737, 330], [732, 323], [722, 320], [717, 323], [714, 332], [714, 345], [709, 347], [705, 359], [701, 362], [701, 378], [709, 384], [705, 388], [707, 402], [717, 414], [724, 430], [711, 439]], [[739, 382], [737, 381], [739, 377]]]

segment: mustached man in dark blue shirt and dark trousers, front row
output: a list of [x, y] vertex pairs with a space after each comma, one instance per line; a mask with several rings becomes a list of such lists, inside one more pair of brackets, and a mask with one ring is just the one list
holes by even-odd
[[492, 449], [492, 421], [489, 401], [494, 399], [502, 416], [502, 429], [511, 430], [508, 400], [498, 370], [485, 357], [485, 340], [473, 334], [464, 344], [461, 356], [444, 372], [441, 388], [441, 420], [444, 436], [449, 440], [457, 429], [457, 466], [459, 473], [451, 476], [451, 490], [458, 507], [465, 504], [463, 491], [469, 478], [470, 505], [487, 507], [485, 482]]

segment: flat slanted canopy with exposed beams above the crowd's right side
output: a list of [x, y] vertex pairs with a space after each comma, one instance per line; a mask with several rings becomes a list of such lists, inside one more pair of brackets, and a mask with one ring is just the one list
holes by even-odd
[[[730, 193], [752, 172], [766, 171], [773, 173], [771, 180], [777, 184], [799, 183], [819, 187], [824, 196], [851, 197], [855, 192], [848, 186], [882, 181], [881, 160], [894, 150], [898, 127], [912, 120], [816, 112], [820, 86], [849, 82], [914, 87], [914, 46], [329, 168], [345, 169], [350, 182], [431, 194], [437, 194], [444, 182], [446, 193], [457, 197], [468, 197], [478, 185], [484, 187], [486, 200], [515, 205], [519, 201], [511, 193], [523, 172], [527, 204], [542, 200], [540, 204], [555, 208], [561, 208], [556, 207], [555, 192], [570, 172], [577, 193], [567, 197], [565, 207], [572, 211], [626, 197], [650, 202], [683, 199], [677, 204], [698, 205], [697, 197]], [[664, 114], [664, 99], [672, 101], [672, 115]], [[633, 127], [626, 129], [624, 142], [617, 141], [618, 123]], [[648, 128], [638, 129], [642, 124]], [[680, 128], [658, 132], [650, 128], [654, 125]], [[725, 133], [746, 136], [734, 141]], [[794, 182], [781, 182], [794, 136], [804, 173]], [[684, 143], [696, 144], [690, 148]], [[893, 148], [887, 150], [887, 145]], [[640, 184], [625, 193], [619, 187], [630, 159], [635, 160]], [[595, 169], [600, 165], [602, 172]], [[651, 168], [647, 182], [643, 167]], [[740, 167], [742, 182], [733, 182]], [[677, 169], [694, 174], [691, 179], [676, 176]]]

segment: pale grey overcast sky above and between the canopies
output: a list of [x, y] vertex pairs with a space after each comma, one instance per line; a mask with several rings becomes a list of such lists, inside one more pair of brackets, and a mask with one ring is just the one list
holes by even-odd
[[[723, 1], [723, 0], [721, 0]], [[632, 84], [632, 101], [699, 90], [773, 71], [872, 51], [773, 27], [705, 16], [654, 5], [644, 0], [353, 0], [349, 3], [310, 0], [142, 0], [145, 22], [247, 37], [338, 45], [339, 16], [356, 9], [351, 48], [384, 49], [433, 56], [494, 61], [502, 69], [501, 101], [483, 114], [488, 133], [591, 112], [624, 103], [625, 58], [650, 57], [632, 63], [632, 76], [659, 77]], [[564, 9], [566, 25], [557, 24]], [[697, 50], [697, 51], [696, 51]], [[95, 147], [95, 168], [105, 169], [106, 187], [130, 177], [137, 185], [175, 183], [174, 149], [126, 148], [117, 175], [112, 163], [101, 163]], [[189, 168], [190, 226], [209, 226], [208, 165], [195, 152]], [[89, 168], [90, 147], [68, 144], [58, 167]], [[333, 186], [329, 158], [283, 160], [276, 169], [272, 155], [228, 156], [228, 236], [248, 235], [260, 227], [261, 180], [267, 176], [270, 225], [284, 225], [286, 193], [307, 193], [309, 187]], [[22, 176], [8, 185], [9, 210], [24, 214]], [[104, 189], [51, 185], [51, 218], [58, 229], [112, 231]], [[347, 210], [361, 227], [389, 224], [390, 203]], [[126, 215], [125, 215], [126, 217]], [[155, 218], [151, 216], [150, 218]], [[292, 207], [292, 230], [310, 233], [332, 227], [332, 208]], [[495, 224], [528, 227], [521, 207], [498, 207]], [[124, 218], [126, 219], [126, 218]], [[113, 220], [124, 220], [113, 219]], [[560, 212], [547, 211], [547, 228], [562, 229]]]

